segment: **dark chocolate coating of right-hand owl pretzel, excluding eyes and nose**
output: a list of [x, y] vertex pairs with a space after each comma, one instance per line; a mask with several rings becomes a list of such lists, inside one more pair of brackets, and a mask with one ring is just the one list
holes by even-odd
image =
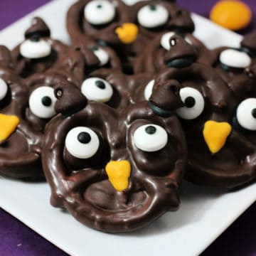
[[[154, 105], [164, 110], [178, 110], [172, 107], [175, 102], [173, 99], [176, 97], [176, 102], [181, 101], [181, 95], [168, 90], [169, 83], [174, 80], [178, 92], [183, 88], [193, 87], [201, 92], [204, 99], [203, 112], [198, 117], [181, 118], [188, 144], [186, 179], [193, 183], [226, 188], [253, 181], [256, 177], [256, 148], [253, 144], [255, 131], [241, 129], [238, 122], [235, 122], [240, 102], [248, 97], [255, 97], [253, 82], [248, 84], [248, 80], [237, 80], [228, 86], [215, 70], [196, 63], [185, 69], [164, 70], [154, 85], [151, 96]], [[215, 154], [210, 152], [203, 139], [203, 129], [208, 120], [228, 122], [232, 127], [224, 146]]]

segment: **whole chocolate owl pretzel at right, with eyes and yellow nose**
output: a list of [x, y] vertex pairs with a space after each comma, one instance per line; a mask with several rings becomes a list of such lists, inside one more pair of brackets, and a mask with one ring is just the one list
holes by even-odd
[[[175, 83], [174, 90], [171, 85]], [[160, 109], [169, 107], [182, 121], [188, 144], [189, 181], [233, 188], [256, 176], [256, 148], [252, 143], [255, 101], [252, 92], [242, 92], [244, 83], [232, 87], [236, 94], [214, 70], [196, 64], [184, 71], [168, 70], [159, 78], [159, 85], [154, 85], [151, 103]], [[165, 102], [161, 102], [161, 95], [166, 95]], [[173, 101], [178, 97], [183, 107], [171, 107], [167, 97]]]

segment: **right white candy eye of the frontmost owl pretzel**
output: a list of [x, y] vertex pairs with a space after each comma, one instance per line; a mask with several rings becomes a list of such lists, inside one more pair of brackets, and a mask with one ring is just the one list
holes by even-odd
[[145, 124], [134, 132], [134, 144], [138, 149], [154, 152], [163, 149], [168, 142], [166, 130], [156, 124]]

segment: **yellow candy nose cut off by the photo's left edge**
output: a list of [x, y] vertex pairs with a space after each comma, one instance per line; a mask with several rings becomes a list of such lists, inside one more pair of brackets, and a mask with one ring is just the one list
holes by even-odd
[[0, 114], [0, 143], [9, 138], [18, 126], [18, 123], [18, 117]]

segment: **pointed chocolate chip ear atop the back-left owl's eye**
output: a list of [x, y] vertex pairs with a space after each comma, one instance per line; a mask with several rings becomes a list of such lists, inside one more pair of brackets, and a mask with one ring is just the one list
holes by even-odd
[[31, 27], [25, 32], [25, 38], [38, 37], [50, 37], [50, 28], [46, 25], [42, 18], [35, 17], [31, 21]]

